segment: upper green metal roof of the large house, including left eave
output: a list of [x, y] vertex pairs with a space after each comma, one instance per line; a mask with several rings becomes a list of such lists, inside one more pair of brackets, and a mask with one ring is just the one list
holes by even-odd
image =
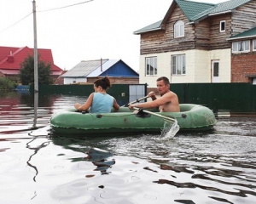
[[[219, 14], [224, 12], [231, 12], [232, 10], [240, 7], [241, 5], [248, 3], [252, 0], [230, 0], [224, 3], [197, 3], [186, 0], [173, 0], [177, 5], [183, 10], [190, 22], [199, 21], [207, 18], [209, 15]], [[168, 12], [167, 12], [168, 14]], [[134, 34], [139, 34], [146, 31], [160, 30], [163, 20], [160, 20], [154, 24], [143, 27], [134, 32]]]

